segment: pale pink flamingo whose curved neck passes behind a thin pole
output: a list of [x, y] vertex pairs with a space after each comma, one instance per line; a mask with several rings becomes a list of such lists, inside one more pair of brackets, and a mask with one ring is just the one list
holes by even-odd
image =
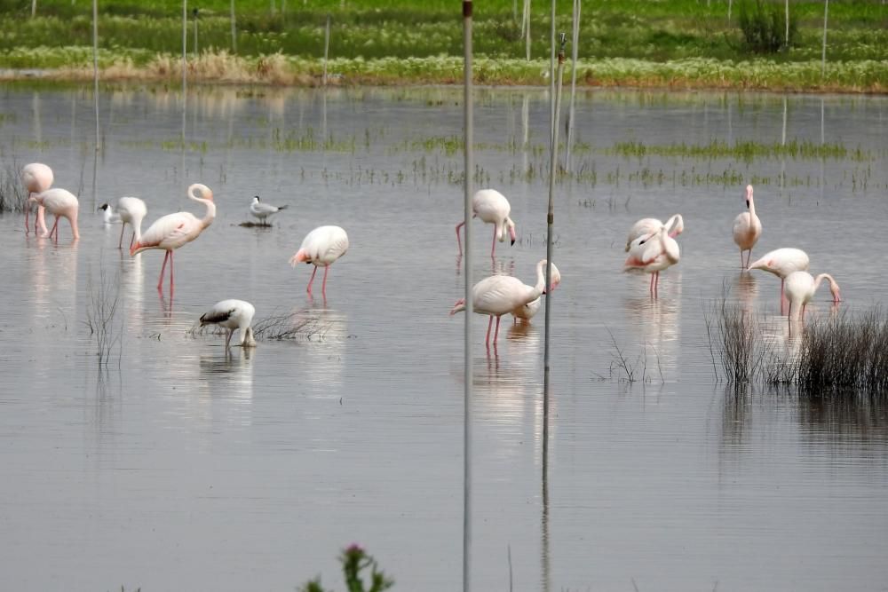
[[[491, 275], [472, 286], [472, 310], [479, 314], [490, 316], [490, 320], [488, 320], [488, 335], [484, 340], [488, 349], [490, 348], [490, 328], [493, 325], [494, 317], [496, 317], [494, 347], [496, 347], [496, 338], [499, 336], [500, 317], [535, 301], [546, 293], [546, 278], [543, 273], [545, 264], [545, 259], [536, 264], [535, 286], [527, 286], [523, 281], [511, 275]], [[554, 285], [552, 288], [554, 288]], [[454, 315], [464, 310], [465, 298], [460, 298], [454, 304], [450, 314]]]

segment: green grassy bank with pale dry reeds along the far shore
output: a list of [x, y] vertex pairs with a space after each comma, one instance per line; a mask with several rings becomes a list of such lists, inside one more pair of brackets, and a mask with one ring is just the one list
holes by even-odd
[[[829, 4], [828, 64], [821, 76], [820, 0], [793, 0], [797, 36], [788, 49], [763, 54], [743, 41], [733, 2], [626, 0], [583, 8], [578, 79], [584, 85], [752, 88], [884, 92], [888, 87], [888, 4]], [[458, 5], [443, 0], [238, 0], [237, 51], [229, 2], [199, 9], [198, 53], [191, 67], [204, 81], [310, 84], [320, 75], [329, 16], [330, 71], [340, 83], [453, 83], [461, 78]], [[274, 4], [274, 12], [271, 7]], [[476, 3], [473, 44], [479, 83], [542, 84], [549, 56], [550, 7], [533, 3], [531, 60], [525, 58], [519, 4]], [[780, 6], [782, 3], [778, 3]], [[775, 4], [775, 5], [778, 5]], [[99, 43], [106, 77], [167, 79], [181, 52], [181, 4], [170, 0], [100, 3]], [[516, 9], [516, 7], [518, 7]], [[91, 3], [0, 0], [0, 67], [53, 68], [77, 78], [91, 62]], [[570, 30], [570, 5], [559, 0], [559, 30]], [[189, 21], [194, 51], [194, 18]], [[7, 76], [18, 76], [7, 73]]]

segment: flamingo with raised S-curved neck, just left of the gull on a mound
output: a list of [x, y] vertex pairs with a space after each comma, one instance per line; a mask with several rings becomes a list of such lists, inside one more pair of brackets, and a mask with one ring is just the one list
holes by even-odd
[[[199, 192], [201, 197], [198, 197], [194, 192]], [[205, 228], [213, 223], [213, 219], [216, 217], [216, 204], [213, 202], [213, 192], [210, 190], [210, 187], [194, 183], [194, 185], [188, 186], [187, 196], [188, 199], [200, 201], [206, 206], [207, 212], [204, 217], [198, 218], [191, 212], [167, 214], [148, 226], [147, 231], [130, 247], [131, 256], [147, 249], [163, 249], [166, 251], [166, 255], [163, 256], [163, 265], [161, 266], [161, 277], [157, 281], [157, 289], [163, 290], [163, 272], [166, 270], [167, 259], [170, 259], [170, 293], [173, 287], [173, 250], [194, 241]]]

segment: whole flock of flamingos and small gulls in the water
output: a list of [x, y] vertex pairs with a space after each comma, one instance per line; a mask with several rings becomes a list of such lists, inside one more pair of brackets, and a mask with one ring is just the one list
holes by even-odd
[[[22, 168], [20, 178], [22, 185], [28, 192], [25, 208], [25, 232], [30, 233], [30, 209], [33, 202], [37, 207], [34, 223], [35, 233], [40, 233], [44, 238], [54, 236], [58, 241], [59, 218], [64, 217], [71, 226], [74, 239], [79, 239], [77, 198], [65, 189], [52, 187], [54, 180], [52, 169], [43, 163], [34, 162]], [[123, 248], [125, 226], [131, 225], [132, 236], [129, 248], [131, 257], [150, 249], [165, 251], [157, 289], [163, 294], [163, 278], [166, 265], [169, 262], [170, 296], [175, 282], [174, 251], [196, 240], [216, 217], [216, 203], [213, 201], [213, 192], [210, 187], [200, 183], [189, 185], [186, 197], [204, 206], [203, 217], [196, 217], [190, 212], [167, 214], [148, 226], [145, 233], [141, 232], [141, 226], [143, 219], [147, 216], [147, 205], [139, 198], [125, 196], [117, 201], [116, 206], [105, 203], [99, 208], [104, 212], [105, 222], [120, 222], [122, 224], [118, 248]], [[756, 213], [752, 185], [746, 187], [745, 201], [746, 211], [741, 212], [733, 220], [733, 241], [740, 248], [741, 270], [760, 269], [773, 273], [781, 279], [781, 314], [783, 314], [784, 304], [789, 304], [787, 312], [789, 319], [804, 319], [805, 307], [812, 301], [823, 280], [829, 281], [833, 302], [840, 302], [841, 296], [836, 280], [829, 273], [821, 273], [817, 277], [813, 277], [807, 271], [810, 263], [809, 258], [801, 249], [775, 249], [753, 263], [749, 263], [752, 249], [762, 235], [762, 222]], [[285, 205], [274, 206], [264, 203], [257, 195], [250, 204], [250, 214], [258, 219], [260, 225], [268, 225], [268, 219], [286, 207]], [[45, 225], [44, 217], [47, 211], [55, 217], [52, 229], [47, 229]], [[496, 242], [505, 241], [506, 236], [510, 238], [512, 245], [515, 244], [515, 222], [511, 219], [510, 214], [509, 201], [503, 193], [496, 191], [496, 189], [481, 189], [472, 198], [472, 218], [478, 217], [486, 224], [494, 226], [490, 248], [491, 257], [496, 255]], [[463, 254], [460, 229], [464, 224], [464, 222], [460, 222], [456, 225], [456, 245], [460, 256]], [[642, 218], [630, 228], [625, 248], [629, 255], [623, 264], [623, 271], [650, 274], [649, 290], [654, 299], [659, 297], [660, 272], [678, 264], [680, 260], [681, 253], [678, 241], [675, 239], [684, 232], [684, 229], [685, 222], [681, 214], [675, 214], [666, 222], [657, 218]], [[290, 257], [289, 263], [294, 267], [299, 263], [314, 265], [312, 276], [306, 287], [306, 292], [310, 296], [318, 267], [323, 267], [324, 277], [321, 283], [321, 294], [326, 300], [329, 268], [339, 257], [345, 255], [348, 248], [348, 235], [339, 226], [319, 226], [305, 236], [299, 249], [293, 257]], [[746, 253], [745, 259], [744, 252]], [[489, 317], [488, 331], [485, 337], [488, 350], [491, 343], [496, 348], [500, 320], [504, 314], [511, 314], [515, 322], [527, 322], [539, 311], [542, 296], [558, 288], [561, 274], [554, 264], [551, 265], [551, 278], [549, 285], [546, 286], [545, 273], [543, 272], [546, 264], [546, 259], [542, 259], [536, 264], [534, 285], [527, 285], [510, 275], [495, 274], [472, 286], [472, 310]], [[461, 298], [456, 301], [450, 314], [454, 315], [465, 309], [465, 300]], [[252, 346], [256, 344], [251, 328], [255, 313], [256, 309], [246, 301], [226, 299], [214, 304], [209, 311], [201, 316], [200, 322], [201, 326], [215, 324], [228, 330], [225, 343], [225, 349], [228, 351], [234, 331], [240, 331], [239, 345]], [[495, 318], [496, 328], [491, 341], [490, 332]]]

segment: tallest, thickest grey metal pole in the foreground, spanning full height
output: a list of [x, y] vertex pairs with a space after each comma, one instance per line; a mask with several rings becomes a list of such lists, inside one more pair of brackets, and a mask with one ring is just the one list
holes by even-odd
[[465, 323], [463, 359], [463, 592], [471, 586], [472, 550], [472, 0], [463, 0], [463, 45], [465, 66], [463, 68], [463, 104], [465, 118], [465, 179], [464, 210], [465, 225]]

